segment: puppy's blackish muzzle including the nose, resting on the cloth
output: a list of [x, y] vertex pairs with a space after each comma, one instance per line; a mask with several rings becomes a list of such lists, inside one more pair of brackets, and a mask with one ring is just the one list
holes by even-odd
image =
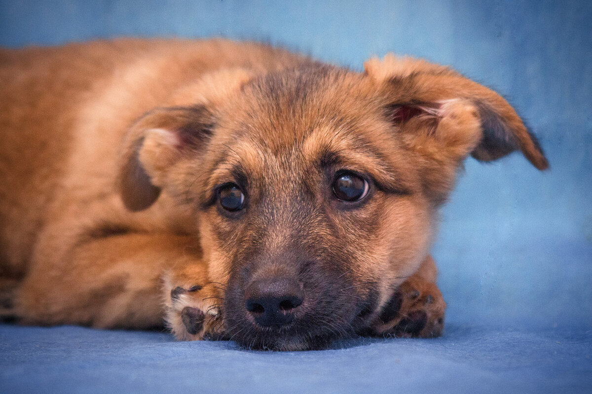
[[303, 350], [352, 335], [365, 298], [334, 266], [258, 262], [236, 269], [224, 297], [227, 336], [249, 349]]

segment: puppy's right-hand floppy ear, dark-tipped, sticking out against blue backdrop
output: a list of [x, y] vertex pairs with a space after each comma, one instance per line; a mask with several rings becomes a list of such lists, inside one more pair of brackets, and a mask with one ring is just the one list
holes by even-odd
[[469, 154], [491, 161], [519, 150], [539, 170], [548, 168], [535, 136], [493, 90], [409, 57], [372, 58], [364, 68], [388, 97], [387, 116], [422, 154], [445, 164]]

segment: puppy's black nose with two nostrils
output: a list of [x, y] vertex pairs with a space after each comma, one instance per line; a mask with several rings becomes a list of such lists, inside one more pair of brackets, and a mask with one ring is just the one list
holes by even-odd
[[294, 320], [304, 292], [291, 278], [258, 279], [244, 292], [244, 307], [263, 327], [281, 327]]

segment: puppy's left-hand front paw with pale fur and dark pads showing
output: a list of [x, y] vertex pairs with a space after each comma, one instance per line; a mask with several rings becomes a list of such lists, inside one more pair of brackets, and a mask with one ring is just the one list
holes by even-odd
[[217, 284], [174, 285], [165, 281], [166, 325], [178, 340], [224, 337], [220, 290]]

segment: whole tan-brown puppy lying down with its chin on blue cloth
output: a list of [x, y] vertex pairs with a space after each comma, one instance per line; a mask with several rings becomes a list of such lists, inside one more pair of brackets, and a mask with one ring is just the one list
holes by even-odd
[[24, 324], [437, 336], [429, 249], [462, 161], [547, 167], [503, 98], [411, 58], [124, 40], [0, 51], [0, 85], [2, 314]]

